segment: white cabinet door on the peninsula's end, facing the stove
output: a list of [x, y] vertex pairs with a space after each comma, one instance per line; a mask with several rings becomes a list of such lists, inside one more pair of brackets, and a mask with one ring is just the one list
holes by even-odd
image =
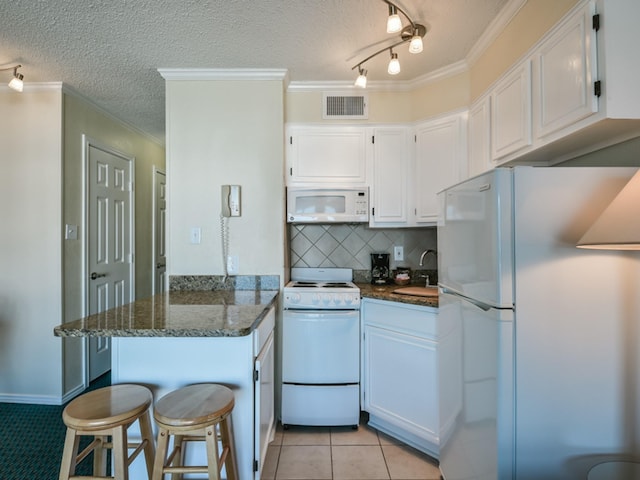
[[254, 460], [258, 462], [258, 475], [256, 478], [260, 478], [276, 423], [273, 331], [256, 358], [255, 372]]

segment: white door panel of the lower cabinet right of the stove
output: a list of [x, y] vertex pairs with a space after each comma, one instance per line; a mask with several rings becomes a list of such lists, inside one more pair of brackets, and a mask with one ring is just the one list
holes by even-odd
[[365, 325], [363, 353], [364, 409], [437, 444], [435, 342]]

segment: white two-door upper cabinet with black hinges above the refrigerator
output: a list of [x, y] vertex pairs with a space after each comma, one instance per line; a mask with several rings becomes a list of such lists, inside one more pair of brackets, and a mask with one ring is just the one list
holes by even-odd
[[497, 165], [553, 165], [640, 136], [638, 18], [638, 0], [582, 0], [496, 82]]

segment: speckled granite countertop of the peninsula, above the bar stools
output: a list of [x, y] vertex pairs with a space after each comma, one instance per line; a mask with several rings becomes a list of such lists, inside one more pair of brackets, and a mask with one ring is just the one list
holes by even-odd
[[275, 304], [277, 290], [171, 291], [58, 325], [58, 337], [241, 337]]

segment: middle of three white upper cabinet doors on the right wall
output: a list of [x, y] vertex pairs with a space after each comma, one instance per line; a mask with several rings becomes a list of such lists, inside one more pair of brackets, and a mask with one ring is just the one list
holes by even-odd
[[531, 61], [507, 74], [491, 93], [491, 159], [531, 145]]

